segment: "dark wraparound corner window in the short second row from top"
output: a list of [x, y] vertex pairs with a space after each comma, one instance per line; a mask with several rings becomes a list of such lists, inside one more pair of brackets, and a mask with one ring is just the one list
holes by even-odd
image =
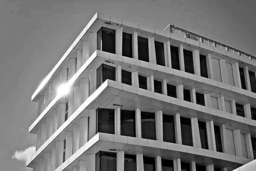
[[97, 69], [97, 88], [101, 86], [104, 81], [107, 79], [116, 80], [116, 68], [111, 67], [106, 64], [102, 64], [98, 69]]

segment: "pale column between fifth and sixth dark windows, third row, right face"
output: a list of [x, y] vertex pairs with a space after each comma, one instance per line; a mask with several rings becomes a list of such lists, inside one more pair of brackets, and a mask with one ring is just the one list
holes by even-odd
[[201, 148], [201, 140], [200, 140], [199, 127], [198, 127], [198, 119], [197, 118], [192, 118], [190, 120], [191, 120], [193, 146], [197, 147], [197, 148]]

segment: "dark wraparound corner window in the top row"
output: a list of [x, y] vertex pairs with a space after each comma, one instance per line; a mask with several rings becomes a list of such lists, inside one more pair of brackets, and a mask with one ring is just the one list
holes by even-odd
[[97, 49], [109, 53], [116, 53], [116, 31], [102, 27], [97, 33]]

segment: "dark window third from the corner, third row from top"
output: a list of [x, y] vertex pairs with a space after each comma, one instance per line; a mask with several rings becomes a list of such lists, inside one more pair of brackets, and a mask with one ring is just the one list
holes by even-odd
[[142, 138], [156, 140], [155, 114], [141, 112], [141, 134]]

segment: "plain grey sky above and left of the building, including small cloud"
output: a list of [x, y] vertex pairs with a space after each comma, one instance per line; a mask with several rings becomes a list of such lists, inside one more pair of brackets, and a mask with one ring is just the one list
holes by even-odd
[[[31, 96], [96, 12], [169, 23], [256, 56], [255, 0], [0, 0], [0, 171], [28, 171]], [[30, 170], [31, 171], [31, 170]]]

